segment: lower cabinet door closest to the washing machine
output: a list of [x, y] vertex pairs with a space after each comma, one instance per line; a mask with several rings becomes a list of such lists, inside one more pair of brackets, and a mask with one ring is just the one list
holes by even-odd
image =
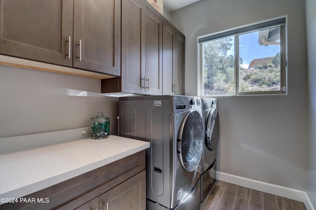
[[99, 196], [100, 210], [146, 210], [146, 171]]

